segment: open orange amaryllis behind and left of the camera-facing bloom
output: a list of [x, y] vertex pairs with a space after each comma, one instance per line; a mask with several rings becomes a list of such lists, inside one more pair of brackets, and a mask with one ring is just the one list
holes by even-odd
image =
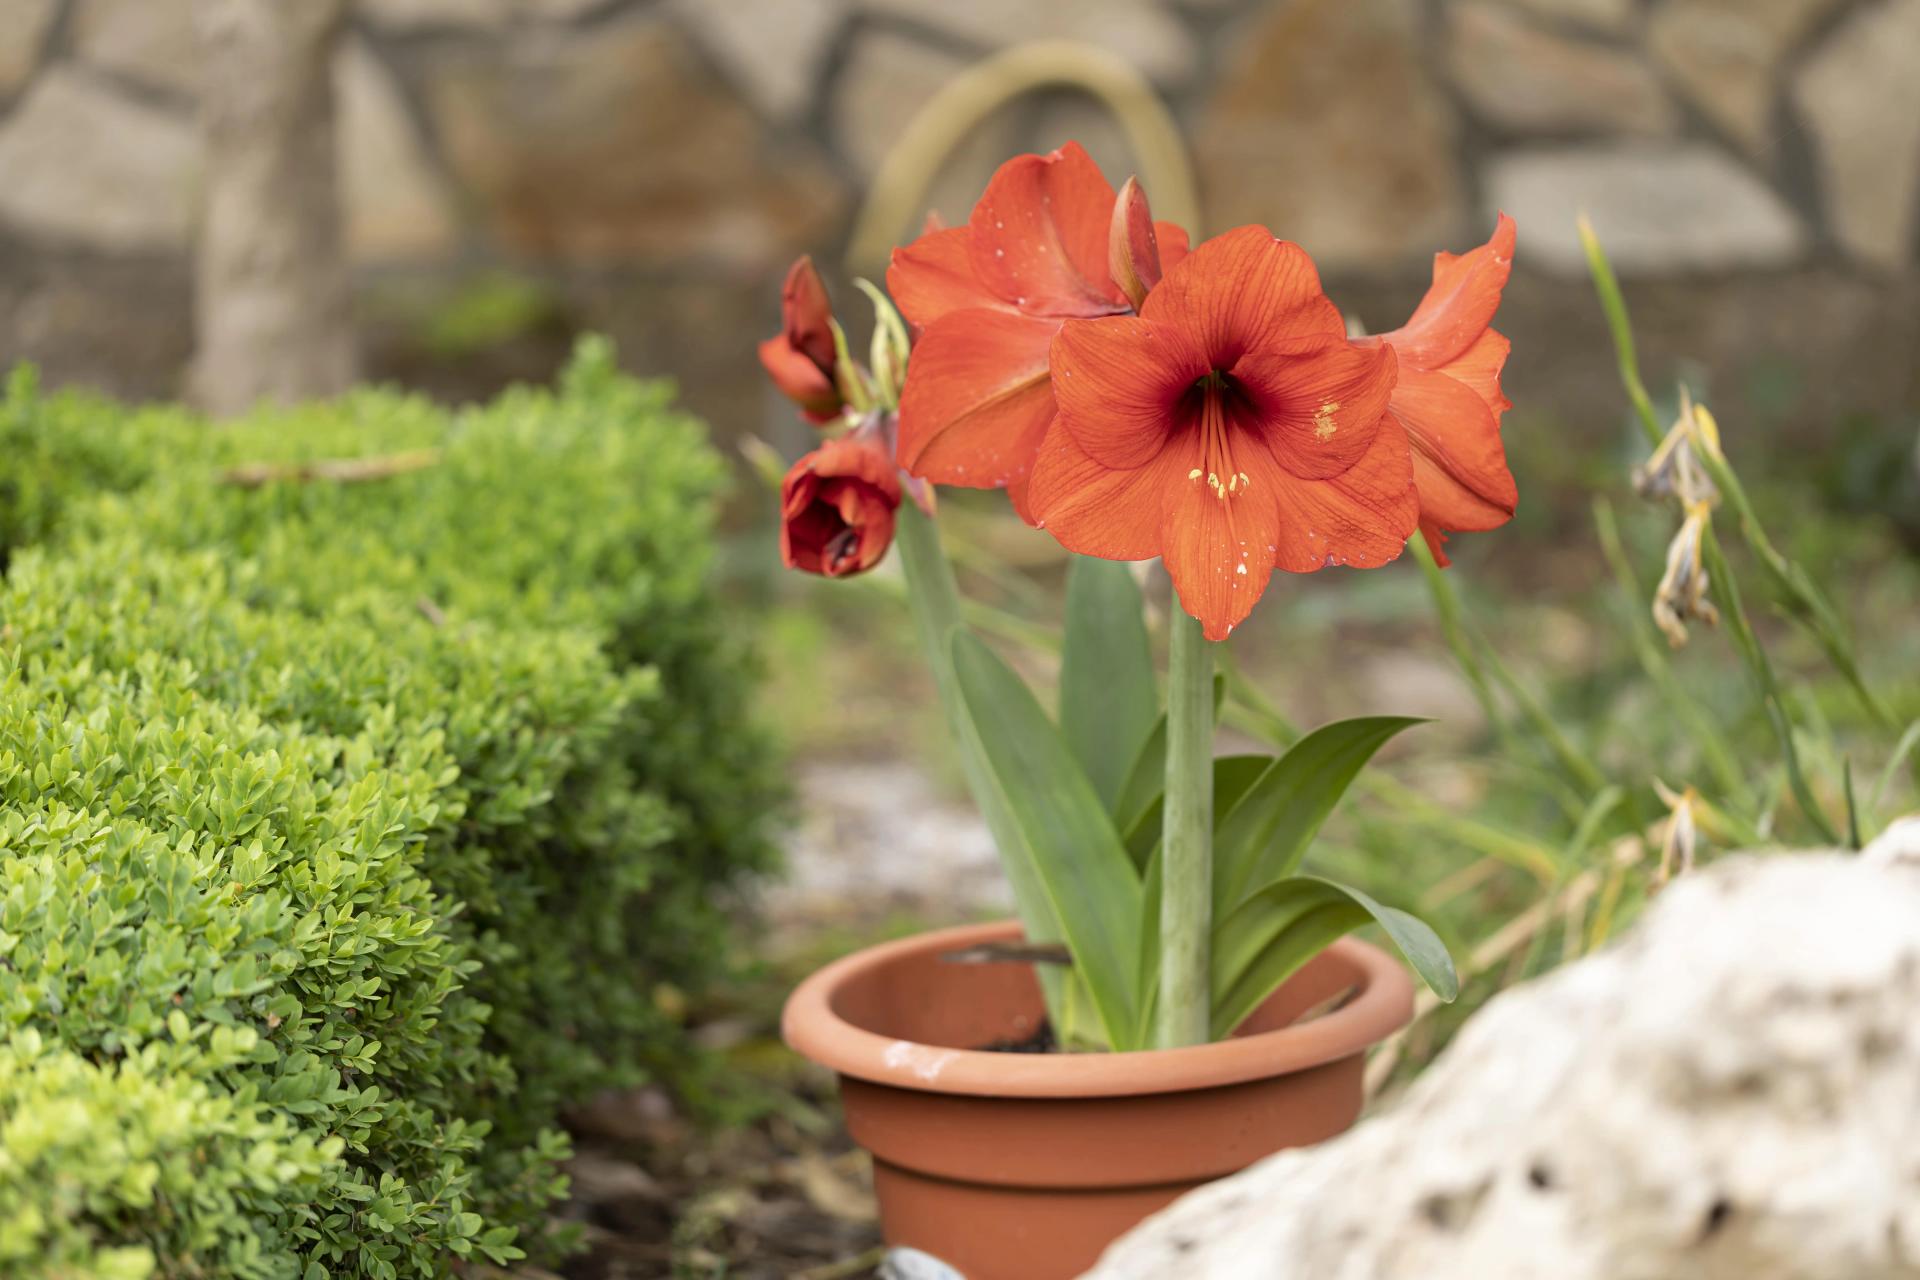
[[[1000, 165], [966, 226], [893, 251], [887, 292], [920, 332], [900, 393], [906, 470], [1004, 486], [1029, 516], [1027, 474], [1054, 416], [1054, 334], [1069, 319], [1133, 311], [1108, 267], [1112, 223], [1114, 188], [1068, 142]], [[1154, 230], [1164, 267], [1187, 255], [1187, 232]]]

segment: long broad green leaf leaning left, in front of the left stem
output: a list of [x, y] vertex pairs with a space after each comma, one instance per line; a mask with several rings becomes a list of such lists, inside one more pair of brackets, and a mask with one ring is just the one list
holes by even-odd
[[979, 741], [995, 831], [1027, 862], [1060, 921], [1108, 1042], [1135, 1048], [1140, 879], [1106, 806], [1020, 676], [977, 635], [954, 631], [954, 676]]

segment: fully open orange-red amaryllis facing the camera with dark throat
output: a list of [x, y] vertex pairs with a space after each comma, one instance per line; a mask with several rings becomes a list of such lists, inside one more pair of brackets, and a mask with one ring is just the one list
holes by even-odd
[[1208, 639], [1275, 568], [1377, 566], [1413, 533], [1394, 351], [1350, 344], [1313, 261], [1261, 226], [1202, 244], [1139, 317], [1069, 320], [1052, 368], [1035, 516], [1068, 551], [1162, 557]]

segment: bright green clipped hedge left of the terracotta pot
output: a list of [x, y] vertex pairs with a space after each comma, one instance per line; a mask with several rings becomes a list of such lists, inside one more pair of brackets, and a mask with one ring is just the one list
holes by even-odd
[[703, 432], [589, 344], [459, 415], [15, 376], [0, 441], [0, 1274], [538, 1249], [555, 1111], [687, 1069], [662, 992], [770, 862]]

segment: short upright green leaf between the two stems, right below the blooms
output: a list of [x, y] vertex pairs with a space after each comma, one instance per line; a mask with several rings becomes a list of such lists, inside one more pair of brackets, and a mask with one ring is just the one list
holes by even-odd
[[1140, 587], [1119, 560], [1073, 557], [1060, 651], [1060, 735], [1108, 808], [1160, 718]]

